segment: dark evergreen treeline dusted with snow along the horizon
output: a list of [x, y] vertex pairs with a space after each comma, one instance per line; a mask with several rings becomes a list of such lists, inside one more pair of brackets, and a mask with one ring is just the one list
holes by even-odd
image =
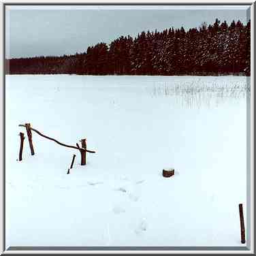
[[10, 74], [250, 76], [251, 21], [142, 32], [62, 57], [9, 59]]

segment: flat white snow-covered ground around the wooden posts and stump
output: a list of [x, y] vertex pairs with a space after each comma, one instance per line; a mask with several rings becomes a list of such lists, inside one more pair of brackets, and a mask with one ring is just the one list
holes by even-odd
[[7, 246], [241, 246], [239, 203], [245, 77], [6, 77]]

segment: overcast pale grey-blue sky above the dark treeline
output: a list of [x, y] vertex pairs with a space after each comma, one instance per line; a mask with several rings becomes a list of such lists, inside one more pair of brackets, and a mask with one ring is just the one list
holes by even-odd
[[246, 23], [248, 7], [7, 6], [6, 57], [75, 54], [121, 35], [134, 37], [142, 31], [181, 26], [187, 30], [216, 18]]

